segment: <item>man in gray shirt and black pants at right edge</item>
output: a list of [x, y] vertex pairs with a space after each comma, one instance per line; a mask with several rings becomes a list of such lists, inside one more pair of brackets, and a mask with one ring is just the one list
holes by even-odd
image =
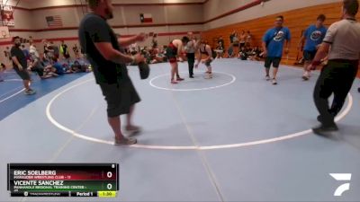
[[[343, 0], [342, 20], [329, 27], [316, 57], [308, 67], [315, 69], [320, 65], [320, 60], [328, 55], [329, 63], [322, 69], [314, 90], [321, 125], [312, 130], [318, 135], [338, 130], [334, 119], [344, 106], [356, 78], [360, 56], [360, 23], [356, 22], [358, 8], [357, 0]], [[334, 94], [334, 100], [329, 108], [331, 94]]]

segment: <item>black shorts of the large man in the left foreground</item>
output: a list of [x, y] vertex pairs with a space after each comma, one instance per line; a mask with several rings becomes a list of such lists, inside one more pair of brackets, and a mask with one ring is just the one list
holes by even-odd
[[139, 94], [129, 80], [121, 83], [100, 83], [103, 96], [107, 103], [107, 116], [109, 118], [129, 114], [130, 107], [140, 101]]

